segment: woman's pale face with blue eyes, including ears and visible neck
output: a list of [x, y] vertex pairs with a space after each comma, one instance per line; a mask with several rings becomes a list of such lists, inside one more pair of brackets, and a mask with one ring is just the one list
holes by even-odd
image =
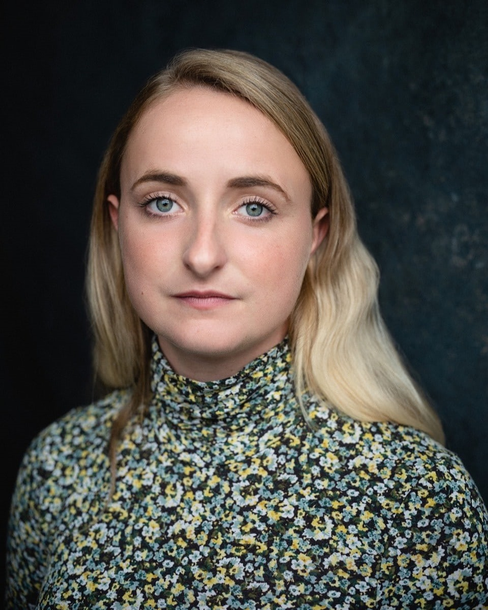
[[206, 88], [155, 102], [108, 198], [129, 297], [173, 369], [209, 381], [279, 343], [327, 231], [290, 142]]

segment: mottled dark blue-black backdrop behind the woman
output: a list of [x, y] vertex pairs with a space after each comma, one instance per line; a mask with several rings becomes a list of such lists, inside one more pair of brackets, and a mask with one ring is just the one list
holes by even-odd
[[209, 46], [279, 66], [326, 124], [384, 316], [487, 501], [486, 0], [26, 6], [5, 5], [1, 37], [4, 492], [34, 434], [92, 396], [84, 259], [109, 135], [175, 51]]

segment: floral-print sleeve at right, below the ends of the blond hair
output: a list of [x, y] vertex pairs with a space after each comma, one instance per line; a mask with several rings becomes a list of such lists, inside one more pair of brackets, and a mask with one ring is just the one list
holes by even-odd
[[488, 515], [459, 458], [423, 470], [393, 514], [377, 608], [488, 607]]

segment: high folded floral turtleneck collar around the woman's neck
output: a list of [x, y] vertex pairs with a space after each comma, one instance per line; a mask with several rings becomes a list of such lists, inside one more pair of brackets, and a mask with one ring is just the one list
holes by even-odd
[[236, 375], [219, 381], [194, 381], [172, 370], [153, 338], [153, 406], [167, 425], [197, 434], [224, 433], [291, 420], [297, 416], [288, 340], [262, 354]]

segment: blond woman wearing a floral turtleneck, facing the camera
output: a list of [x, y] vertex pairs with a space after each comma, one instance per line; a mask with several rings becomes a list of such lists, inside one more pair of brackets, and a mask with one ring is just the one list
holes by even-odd
[[487, 514], [377, 307], [329, 137], [235, 51], [117, 127], [88, 294], [105, 398], [34, 440], [10, 608], [481, 608]]

